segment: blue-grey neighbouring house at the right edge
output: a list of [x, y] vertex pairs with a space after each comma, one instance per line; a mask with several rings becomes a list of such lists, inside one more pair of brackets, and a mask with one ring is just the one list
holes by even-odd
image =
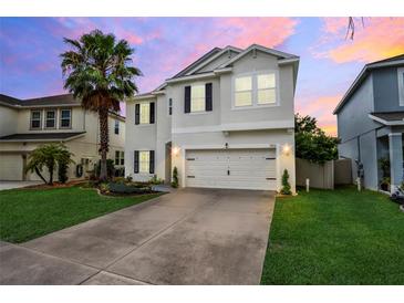
[[340, 157], [363, 165], [366, 188], [379, 189], [379, 159], [391, 163], [392, 190], [403, 181], [404, 54], [366, 64], [334, 109]]

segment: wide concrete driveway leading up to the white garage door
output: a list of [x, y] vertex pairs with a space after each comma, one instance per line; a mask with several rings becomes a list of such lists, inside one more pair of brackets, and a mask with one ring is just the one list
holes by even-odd
[[1, 284], [258, 284], [270, 191], [182, 189], [21, 245]]

